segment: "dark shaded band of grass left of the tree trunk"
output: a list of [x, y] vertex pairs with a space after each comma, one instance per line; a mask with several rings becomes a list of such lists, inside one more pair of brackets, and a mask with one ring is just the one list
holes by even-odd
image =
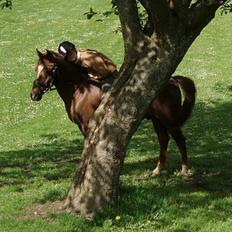
[[0, 152], [0, 187], [26, 184], [36, 181], [36, 178], [58, 180], [72, 177], [83, 141], [61, 140], [56, 134], [42, 137], [48, 143]]

